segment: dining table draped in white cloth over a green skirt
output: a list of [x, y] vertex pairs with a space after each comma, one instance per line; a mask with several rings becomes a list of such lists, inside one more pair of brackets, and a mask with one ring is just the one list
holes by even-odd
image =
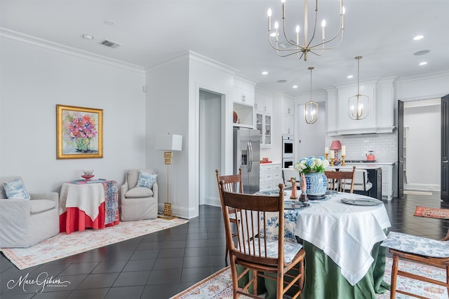
[[[380, 242], [391, 223], [382, 201], [332, 191], [302, 207], [290, 194], [285, 190], [284, 237], [301, 242], [306, 252], [302, 298], [375, 299], [389, 289]], [[265, 279], [259, 290], [274, 298], [276, 285]]]

